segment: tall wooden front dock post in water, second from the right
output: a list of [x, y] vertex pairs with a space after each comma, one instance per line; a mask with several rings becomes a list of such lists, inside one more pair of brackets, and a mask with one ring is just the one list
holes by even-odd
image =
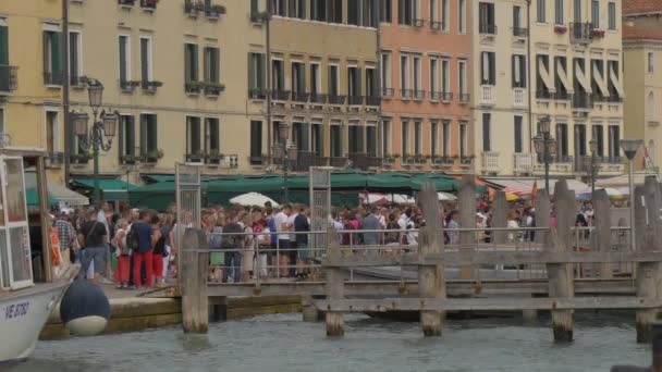
[[[551, 230], [544, 249], [551, 252], [573, 251], [573, 232], [577, 214], [575, 191], [567, 187], [565, 181], [559, 181], [554, 187], [554, 218], [556, 228]], [[575, 282], [573, 266], [569, 263], [548, 263], [549, 296], [553, 298], [574, 297]], [[575, 327], [574, 310], [552, 310], [554, 342], [572, 342]]]

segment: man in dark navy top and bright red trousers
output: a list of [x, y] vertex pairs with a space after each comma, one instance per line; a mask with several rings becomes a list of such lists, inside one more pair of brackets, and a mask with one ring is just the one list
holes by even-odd
[[140, 266], [143, 263], [145, 263], [145, 275], [147, 282], [145, 283], [145, 286], [147, 288], [151, 288], [152, 284], [154, 264], [151, 250], [159, 237], [157, 234], [155, 234], [150, 222], [151, 216], [149, 213], [147, 211], [140, 211], [138, 214], [138, 221], [131, 225], [131, 230], [134, 231], [138, 240], [138, 249], [133, 251], [133, 282], [138, 289], [140, 289], [143, 285], [140, 283]]

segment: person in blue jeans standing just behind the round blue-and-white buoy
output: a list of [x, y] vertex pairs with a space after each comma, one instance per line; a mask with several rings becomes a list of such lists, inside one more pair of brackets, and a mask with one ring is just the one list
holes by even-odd
[[78, 244], [83, 251], [81, 273], [85, 275], [91, 264], [94, 269], [93, 283], [99, 284], [107, 249], [108, 231], [102, 223], [97, 221], [97, 213], [95, 213], [94, 209], [89, 210], [86, 220], [87, 222], [83, 223], [78, 233]]

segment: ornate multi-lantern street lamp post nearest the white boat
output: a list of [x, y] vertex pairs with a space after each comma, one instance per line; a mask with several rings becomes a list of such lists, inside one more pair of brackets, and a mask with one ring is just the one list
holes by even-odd
[[94, 159], [94, 199], [97, 210], [101, 202], [101, 193], [99, 189], [99, 150], [109, 151], [112, 147], [112, 138], [115, 136], [115, 126], [118, 124], [119, 114], [117, 112], [106, 112], [99, 108], [103, 102], [103, 85], [96, 79], [88, 79], [87, 94], [89, 96], [89, 106], [93, 110], [93, 125], [87, 129], [87, 121], [89, 116], [85, 112], [76, 112], [73, 114], [74, 133], [78, 137], [78, 146], [85, 152], [91, 149]]

